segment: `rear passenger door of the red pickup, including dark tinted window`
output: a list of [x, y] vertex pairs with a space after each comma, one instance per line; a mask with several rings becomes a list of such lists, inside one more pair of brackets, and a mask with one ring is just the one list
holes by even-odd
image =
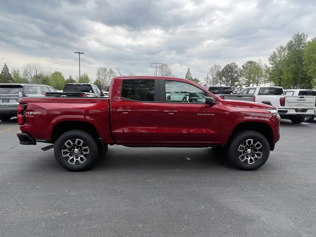
[[117, 144], [151, 145], [160, 141], [156, 79], [116, 80], [111, 97], [111, 125]]

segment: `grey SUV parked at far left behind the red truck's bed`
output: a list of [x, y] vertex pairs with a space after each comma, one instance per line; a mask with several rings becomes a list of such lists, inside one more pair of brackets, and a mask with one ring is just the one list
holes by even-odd
[[46, 92], [56, 92], [49, 85], [8, 83], [0, 84], [0, 120], [8, 121], [16, 117], [19, 99], [26, 96], [44, 96]]

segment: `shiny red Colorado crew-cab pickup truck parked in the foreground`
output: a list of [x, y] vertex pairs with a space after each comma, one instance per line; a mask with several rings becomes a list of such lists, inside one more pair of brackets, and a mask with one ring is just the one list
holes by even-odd
[[279, 140], [272, 106], [223, 100], [202, 86], [168, 77], [116, 77], [110, 98], [19, 100], [20, 144], [50, 143], [71, 171], [91, 168], [108, 145], [227, 149], [238, 169], [254, 170]]

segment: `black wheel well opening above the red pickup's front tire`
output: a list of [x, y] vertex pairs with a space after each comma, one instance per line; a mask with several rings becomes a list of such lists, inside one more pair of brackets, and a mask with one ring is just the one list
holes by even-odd
[[270, 150], [273, 151], [274, 150], [274, 142], [273, 142], [273, 132], [271, 127], [269, 126], [269, 124], [265, 123], [265, 122], [241, 122], [239, 123], [233, 130], [228, 143], [231, 141], [232, 137], [234, 137], [234, 135], [239, 132], [239, 131], [243, 131], [243, 130], [253, 130], [253, 131], [257, 131], [259, 133], [261, 133], [262, 135], [264, 135], [270, 145]]

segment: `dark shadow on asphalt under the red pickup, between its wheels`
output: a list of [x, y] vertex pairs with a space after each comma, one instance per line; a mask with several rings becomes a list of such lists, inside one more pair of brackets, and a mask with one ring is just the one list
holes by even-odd
[[211, 148], [109, 147], [94, 170], [100, 169], [234, 169], [225, 151]]

